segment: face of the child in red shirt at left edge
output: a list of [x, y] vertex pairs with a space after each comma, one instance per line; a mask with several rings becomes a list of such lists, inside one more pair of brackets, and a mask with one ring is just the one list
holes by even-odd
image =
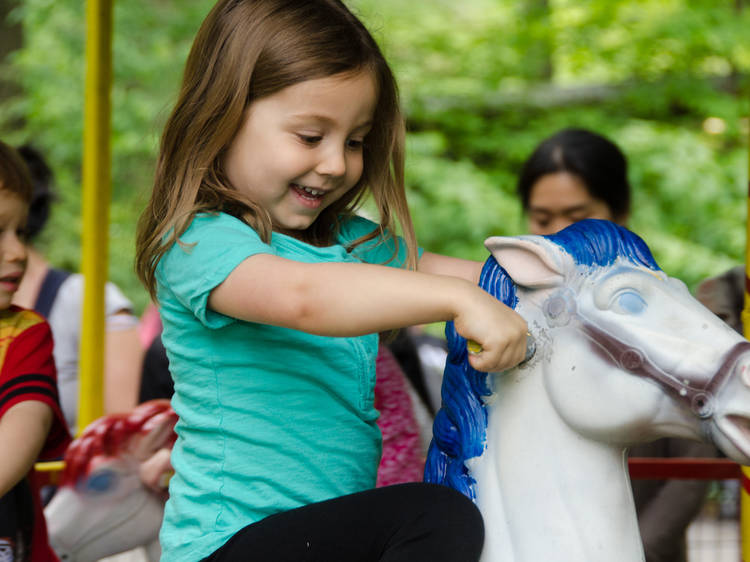
[[0, 310], [10, 306], [26, 270], [24, 230], [28, 205], [0, 185]]

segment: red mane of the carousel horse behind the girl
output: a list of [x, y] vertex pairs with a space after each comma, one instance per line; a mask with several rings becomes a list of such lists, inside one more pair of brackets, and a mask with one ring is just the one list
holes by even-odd
[[[74, 484], [88, 473], [89, 462], [96, 456], [116, 457], [127, 450], [133, 437], [148, 433], [153, 428], [155, 418], [167, 416], [173, 422], [177, 419], [169, 405], [169, 400], [149, 400], [136, 406], [131, 412], [109, 414], [91, 422], [83, 433], [71, 443], [65, 452], [65, 471], [61, 485]], [[172, 432], [168, 445], [174, 444], [176, 435]]]

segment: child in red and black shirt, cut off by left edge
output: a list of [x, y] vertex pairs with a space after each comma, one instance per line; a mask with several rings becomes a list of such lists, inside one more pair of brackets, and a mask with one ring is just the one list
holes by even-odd
[[52, 335], [36, 312], [11, 305], [26, 267], [31, 179], [0, 141], [0, 554], [15, 562], [56, 561], [47, 542], [35, 461], [62, 455], [70, 436], [60, 411]]

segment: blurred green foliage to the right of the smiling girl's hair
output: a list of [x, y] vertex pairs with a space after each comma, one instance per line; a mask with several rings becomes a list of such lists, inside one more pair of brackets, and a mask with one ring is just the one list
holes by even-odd
[[742, 262], [750, 6], [355, 4], [378, 22], [402, 84], [410, 201], [427, 247], [476, 257], [483, 237], [523, 232], [518, 170], [540, 140], [580, 126], [628, 155], [630, 226], [666, 271], [694, 286]]

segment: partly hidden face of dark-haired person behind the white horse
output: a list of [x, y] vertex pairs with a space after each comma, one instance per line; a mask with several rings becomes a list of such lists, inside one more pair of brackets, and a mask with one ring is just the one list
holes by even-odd
[[583, 219], [615, 220], [609, 206], [591, 196], [581, 178], [555, 172], [539, 178], [529, 194], [529, 232], [554, 234]]

